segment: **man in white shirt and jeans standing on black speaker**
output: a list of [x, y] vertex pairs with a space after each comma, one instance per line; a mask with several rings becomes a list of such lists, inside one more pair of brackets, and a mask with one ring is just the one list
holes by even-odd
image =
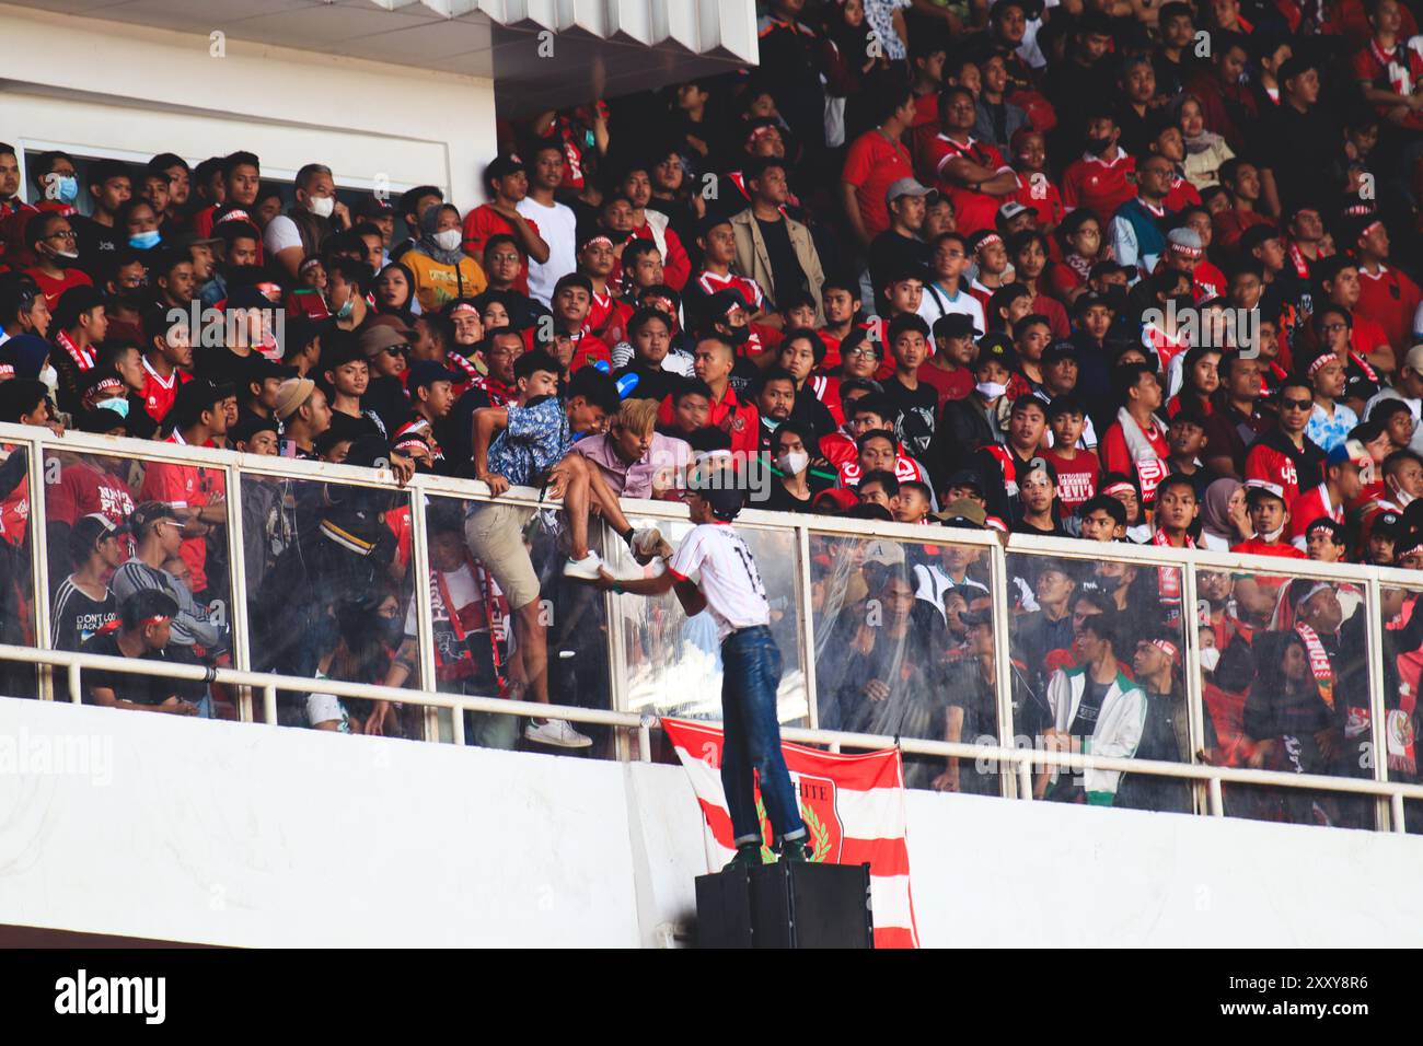
[[730, 457], [709, 457], [683, 495], [696, 524], [653, 578], [618, 581], [602, 572], [602, 588], [656, 596], [677, 593], [687, 616], [709, 611], [721, 640], [721, 787], [736, 833], [731, 865], [761, 864], [761, 824], [756, 815], [756, 778], [783, 861], [804, 861], [805, 824], [781, 756], [776, 690], [781, 652], [771, 638], [770, 605], [751, 549], [731, 528], [744, 501], [744, 475]]

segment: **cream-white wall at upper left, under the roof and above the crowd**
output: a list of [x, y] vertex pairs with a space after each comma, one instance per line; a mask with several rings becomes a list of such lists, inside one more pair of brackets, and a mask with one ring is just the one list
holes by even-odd
[[[306, 162], [337, 185], [440, 185], [482, 201], [494, 84], [478, 77], [268, 47], [0, 4], [0, 141], [191, 162], [250, 149], [265, 175]], [[30, 191], [27, 185], [26, 191]]]

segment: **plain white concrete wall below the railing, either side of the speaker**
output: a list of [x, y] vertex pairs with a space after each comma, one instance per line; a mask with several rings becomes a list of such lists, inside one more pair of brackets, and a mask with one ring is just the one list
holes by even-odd
[[[911, 793], [909, 852], [926, 945], [1423, 934], [1409, 837]], [[0, 924], [649, 946], [687, 924], [704, 861], [680, 767], [0, 700]]]

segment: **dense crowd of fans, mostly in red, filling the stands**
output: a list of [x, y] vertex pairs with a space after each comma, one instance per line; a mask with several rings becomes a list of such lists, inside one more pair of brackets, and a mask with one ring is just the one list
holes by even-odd
[[[541, 593], [572, 591], [596, 632], [565, 585], [608, 571], [589, 518], [656, 569], [666, 542], [619, 497], [676, 498], [706, 454], [763, 470], [756, 508], [1420, 568], [1420, 77], [1399, 0], [770, 0], [756, 68], [501, 124], [480, 205], [316, 162], [270, 184], [243, 151], [33, 154], [21, 185], [0, 144], [0, 421], [545, 487], [562, 569], [507, 505], [435, 514], [431, 556], [441, 686], [544, 702]], [[223, 663], [221, 472], [61, 465], [54, 642]], [[18, 455], [0, 485], [17, 558]], [[265, 667], [404, 685], [408, 512], [310, 487], [243, 495]], [[842, 608], [830, 719], [898, 727], [891, 687], [979, 694], [916, 730], [968, 737], [992, 723], [986, 574], [889, 559], [837, 605], [914, 596], [904, 620], [932, 620], [892, 643], [912, 685]], [[1234, 709], [1211, 757], [1359, 773], [1358, 593], [1202, 575], [1192, 619], [1180, 572], [1118, 568], [1015, 576], [1032, 736], [1188, 759], [1184, 717], [1150, 710], [1180, 700], [1197, 626]], [[1389, 609], [1390, 767], [1413, 773], [1413, 599]], [[23, 638], [23, 592], [0, 615]], [[135, 687], [91, 696], [212, 713], [211, 689]], [[411, 729], [316, 697], [312, 724]], [[973, 787], [955, 767], [933, 786]], [[1037, 784], [1151, 793], [1076, 786]]]

